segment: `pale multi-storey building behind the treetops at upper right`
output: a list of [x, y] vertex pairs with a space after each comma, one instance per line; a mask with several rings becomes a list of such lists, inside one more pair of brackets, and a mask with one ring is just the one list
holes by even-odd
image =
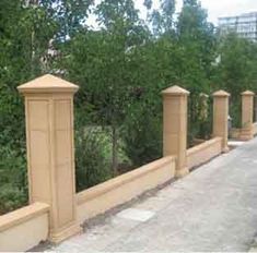
[[235, 32], [241, 37], [257, 41], [257, 12], [219, 19], [222, 34]]

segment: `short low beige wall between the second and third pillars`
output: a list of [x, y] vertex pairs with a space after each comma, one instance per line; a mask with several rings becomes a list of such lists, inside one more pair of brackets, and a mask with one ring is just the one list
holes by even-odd
[[187, 166], [192, 169], [222, 153], [222, 138], [214, 137], [187, 149]]

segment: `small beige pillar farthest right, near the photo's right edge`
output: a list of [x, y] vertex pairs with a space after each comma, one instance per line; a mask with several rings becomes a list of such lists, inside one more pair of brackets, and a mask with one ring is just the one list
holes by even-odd
[[246, 91], [242, 95], [242, 130], [241, 140], [249, 141], [254, 137], [254, 97], [253, 92]]

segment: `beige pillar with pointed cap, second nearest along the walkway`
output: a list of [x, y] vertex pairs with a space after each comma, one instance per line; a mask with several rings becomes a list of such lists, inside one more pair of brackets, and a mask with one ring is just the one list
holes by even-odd
[[187, 174], [187, 97], [189, 92], [178, 86], [163, 94], [163, 156], [176, 156], [176, 177]]

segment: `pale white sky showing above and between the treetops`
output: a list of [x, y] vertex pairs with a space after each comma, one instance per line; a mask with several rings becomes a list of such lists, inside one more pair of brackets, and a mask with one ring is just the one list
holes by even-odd
[[[147, 9], [143, 7], [143, 0], [133, 0], [135, 5], [140, 10], [142, 19], [147, 17]], [[95, 0], [97, 4], [101, 0]], [[218, 17], [238, 15], [242, 13], [257, 12], [257, 0], [200, 0], [202, 8], [208, 11], [209, 21], [218, 25]], [[183, 0], [176, 0], [176, 12], [182, 9]], [[153, 8], [159, 8], [159, 0], [153, 0]], [[95, 17], [90, 16], [89, 24], [97, 26]]]

